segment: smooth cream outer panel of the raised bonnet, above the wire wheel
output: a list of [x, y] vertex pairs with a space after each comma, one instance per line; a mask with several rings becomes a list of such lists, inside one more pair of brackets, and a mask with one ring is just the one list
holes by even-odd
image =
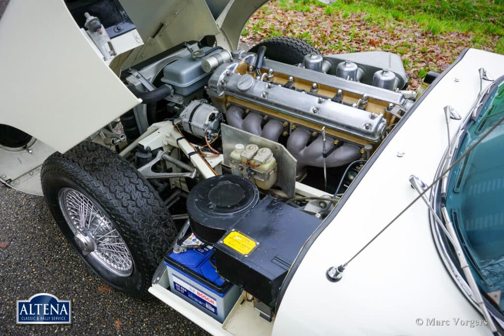
[[[63, 0], [11, 1], [0, 20], [0, 123], [61, 153], [139, 104]], [[44, 158], [45, 159], [45, 158]]]

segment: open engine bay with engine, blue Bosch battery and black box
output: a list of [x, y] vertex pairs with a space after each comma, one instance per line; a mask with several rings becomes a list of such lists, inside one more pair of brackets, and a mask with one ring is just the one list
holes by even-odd
[[187, 219], [164, 286], [221, 322], [237, 289], [271, 321], [299, 249], [416, 96], [396, 55], [266, 51], [185, 44], [125, 78], [144, 104], [120, 155]]

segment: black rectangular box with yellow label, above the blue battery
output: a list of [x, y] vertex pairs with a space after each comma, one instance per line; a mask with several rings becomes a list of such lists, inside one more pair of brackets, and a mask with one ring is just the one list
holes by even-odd
[[320, 223], [265, 196], [214, 245], [217, 273], [274, 308], [287, 271]]

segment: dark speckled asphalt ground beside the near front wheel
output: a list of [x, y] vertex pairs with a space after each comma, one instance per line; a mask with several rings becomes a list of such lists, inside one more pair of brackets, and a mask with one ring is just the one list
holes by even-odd
[[[59, 232], [42, 197], [0, 183], [0, 209], [0, 334], [205, 334], [154, 297], [132, 299], [105, 286]], [[16, 324], [16, 300], [41, 292], [72, 300], [71, 325]]]

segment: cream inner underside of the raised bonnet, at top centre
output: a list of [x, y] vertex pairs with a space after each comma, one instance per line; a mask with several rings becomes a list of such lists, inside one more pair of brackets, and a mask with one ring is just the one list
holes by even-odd
[[[222, 12], [214, 18], [207, 3], [221, 7], [226, 0], [150, 0], [149, 6], [138, 0], [119, 1], [145, 41], [127, 59], [121, 59], [122, 69], [182, 42], [200, 41], [205, 36], [215, 36], [217, 45], [225, 49], [236, 49], [248, 18], [267, 2], [227, 0]], [[112, 68], [117, 67], [116, 63]]]

